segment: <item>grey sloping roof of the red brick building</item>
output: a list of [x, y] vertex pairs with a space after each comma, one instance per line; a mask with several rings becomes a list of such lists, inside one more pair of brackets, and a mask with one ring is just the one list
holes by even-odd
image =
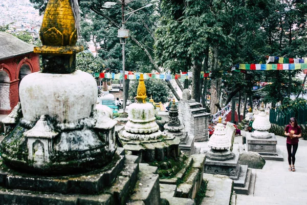
[[33, 52], [34, 45], [5, 32], [0, 32], [0, 60]]

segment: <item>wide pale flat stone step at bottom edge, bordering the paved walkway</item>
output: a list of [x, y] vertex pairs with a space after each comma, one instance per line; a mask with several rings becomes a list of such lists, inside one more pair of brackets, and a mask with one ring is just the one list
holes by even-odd
[[202, 205], [229, 205], [233, 180], [224, 175], [204, 174], [203, 179], [207, 181], [207, 190]]

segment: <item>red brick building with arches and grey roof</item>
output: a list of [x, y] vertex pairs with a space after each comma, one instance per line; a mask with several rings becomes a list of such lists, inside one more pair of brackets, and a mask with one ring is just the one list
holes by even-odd
[[9, 114], [19, 101], [19, 84], [26, 75], [39, 71], [34, 46], [0, 32], [0, 114]]

